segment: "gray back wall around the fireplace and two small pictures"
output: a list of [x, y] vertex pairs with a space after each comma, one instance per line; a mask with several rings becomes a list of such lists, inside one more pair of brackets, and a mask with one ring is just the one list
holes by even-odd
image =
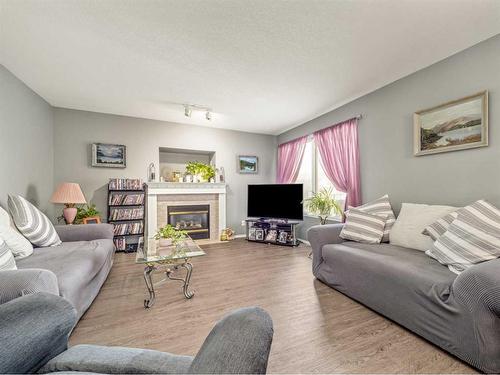
[[[93, 142], [127, 146], [127, 168], [92, 168]], [[214, 151], [217, 166], [223, 166], [228, 183], [227, 223], [243, 233], [246, 217], [247, 184], [275, 180], [276, 137], [145, 120], [101, 113], [54, 109], [54, 182], [80, 183], [87, 200], [106, 213], [107, 181], [112, 177], [146, 180], [147, 167], [158, 168], [160, 147]], [[259, 174], [236, 172], [237, 155], [257, 155]]]

